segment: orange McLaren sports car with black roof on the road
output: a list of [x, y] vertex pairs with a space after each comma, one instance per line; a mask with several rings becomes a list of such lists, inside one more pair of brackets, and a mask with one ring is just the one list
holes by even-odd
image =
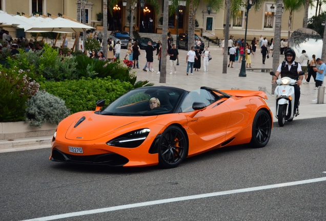
[[272, 112], [261, 91], [188, 92], [175, 87], [134, 89], [95, 111], [59, 123], [50, 160], [139, 167], [178, 166], [185, 158], [237, 144], [267, 145]]

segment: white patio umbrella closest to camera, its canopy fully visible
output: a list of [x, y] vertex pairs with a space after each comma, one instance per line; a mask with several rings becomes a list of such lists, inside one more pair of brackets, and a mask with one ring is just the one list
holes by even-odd
[[77, 23], [76, 21], [68, 20], [65, 18], [55, 18], [47, 23], [34, 25], [33, 28], [26, 30], [26, 32], [56, 32], [56, 33], [77, 33], [84, 29], [95, 29], [93, 27]]

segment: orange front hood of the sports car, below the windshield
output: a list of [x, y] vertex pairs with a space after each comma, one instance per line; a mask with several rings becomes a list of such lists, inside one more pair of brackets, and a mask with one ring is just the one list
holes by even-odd
[[[75, 127], [77, 122], [85, 117], [85, 120]], [[87, 113], [78, 117], [68, 128], [66, 139], [90, 141], [113, 134], [118, 129], [132, 127], [134, 125], [154, 120], [157, 116], [108, 116]]]

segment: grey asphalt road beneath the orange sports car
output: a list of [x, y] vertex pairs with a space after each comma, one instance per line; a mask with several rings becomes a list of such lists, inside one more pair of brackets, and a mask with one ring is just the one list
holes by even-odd
[[[0, 153], [0, 220], [101, 208], [113, 211], [59, 220], [325, 220], [326, 179], [300, 184], [326, 177], [325, 126], [326, 118], [276, 123], [264, 148], [221, 148], [166, 170], [56, 163], [48, 160], [50, 149]], [[288, 182], [298, 183], [160, 201]]]

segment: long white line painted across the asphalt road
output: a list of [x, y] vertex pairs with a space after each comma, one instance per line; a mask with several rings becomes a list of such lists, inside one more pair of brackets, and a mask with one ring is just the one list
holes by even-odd
[[[326, 171], [324, 171], [323, 173], [326, 173]], [[234, 194], [234, 193], [252, 192], [252, 191], [258, 191], [258, 190], [266, 190], [266, 189], [288, 187], [288, 186], [295, 186], [295, 185], [301, 185], [301, 184], [316, 183], [316, 182], [322, 182], [322, 181], [326, 181], [326, 177], [310, 179], [310, 180], [295, 181], [295, 182], [289, 182], [289, 183], [272, 184], [272, 185], [267, 185], [267, 186], [258, 186], [258, 187], [227, 190], [227, 191], [205, 193], [205, 194], [198, 194], [198, 195], [191, 195], [191, 196], [182, 196], [182, 197], [168, 198], [165, 200], [156, 200], [156, 201], [149, 201], [149, 202], [143, 202], [143, 203], [127, 204], [127, 205], [122, 205], [122, 206], [85, 210], [85, 211], [80, 211], [80, 212], [64, 213], [64, 214], [59, 214], [59, 215], [26, 219], [26, 220], [22, 220], [22, 221], [47, 221], [47, 220], [68, 218], [68, 217], [74, 217], [74, 216], [82, 216], [82, 215], [104, 213], [104, 212], [110, 212], [110, 211], [116, 211], [116, 210], [130, 209], [130, 208], [136, 208], [136, 207], [166, 204], [166, 203], [172, 203], [172, 202], [178, 202], [178, 201], [195, 200], [198, 198], [207, 198], [207, 197], [212, 197], [212, 196], [220, 196], [220, 195], [228, 195], [228, 194]]]

